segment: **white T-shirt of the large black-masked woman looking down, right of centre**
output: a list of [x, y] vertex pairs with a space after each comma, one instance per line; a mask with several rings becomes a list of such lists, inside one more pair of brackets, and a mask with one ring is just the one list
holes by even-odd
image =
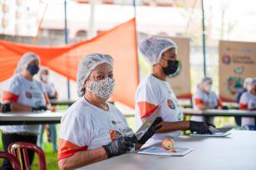
[[[135, 94], [135, 123], [139, 129], [142, 124], [141, 118], [146, 118], [160, 108], [160, 116], [165, 122], [176, 122], [183, 120], [180, 104], [170, 87], [164, 80], [157, 79], [154, 75], [147, 75], [140, 82]], [[178, 136], [181, 131], [165, 134], [155, 134], [143, 146], [158, 143], [163, 138]]]

